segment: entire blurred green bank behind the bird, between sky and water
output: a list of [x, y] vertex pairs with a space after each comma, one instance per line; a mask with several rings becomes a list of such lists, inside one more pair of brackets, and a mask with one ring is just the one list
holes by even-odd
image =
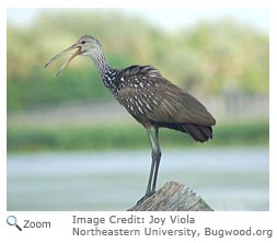
[[[89, 59], [77, 58], [56, 80], [64, 59], [43, 68], [83, 34], [101, 40], [113, 67], [152, 65], [203, 101], [218, 120], [210, 146], [268, 144], [267, 30], [229, 16], [169, 30], [125, 12], [37, 10], [27, 24], [8, 21], [9, 152], [148, 146]], [[164, 146], [195, 144], [165, 132]]]

